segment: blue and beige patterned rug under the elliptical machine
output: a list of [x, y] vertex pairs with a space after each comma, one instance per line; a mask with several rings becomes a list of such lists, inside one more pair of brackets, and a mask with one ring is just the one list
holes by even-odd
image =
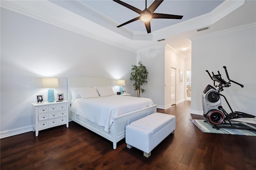
[[[235, 129], [235, 128], [212, 128], [212, 125], [210, 125], [207, 122], [204, 122], [204, 120], [199, 120], [199, 119], [190, 119], [196, 127], [198, 127], [202, 132], [204, 133], [220, 133], [220, 134], [237, 134], [237, 135], [245, 135], [245, 136], [256, 136], [256, 131], [254, 130], [246, 130], [246, 129]], [[241, 122], [242, 124], [245, 124], [249, 127], [252, 127], [256, 129], [256, 127], [248, 124]]]

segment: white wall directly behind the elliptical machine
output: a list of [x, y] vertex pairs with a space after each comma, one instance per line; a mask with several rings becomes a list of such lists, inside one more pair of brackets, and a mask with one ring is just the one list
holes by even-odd
[[[256, 116], [256, 28], [255, 24], [234, 28], [215, 35], [192, 38], [192, 97], [191, 113], [203, 114], [201, 95], [206, 85], [213, 85], [206, 70], [219, 70], [223, 79], [228, 69], [229, 77], [244, 85], [244, 88], [232, 83], [224, 88], [223, 95], [228, 99], [233, 111]], [[224, 109], [228, 108], [224, 99]], [[227, 109], [228, 113], [230, 110]]]

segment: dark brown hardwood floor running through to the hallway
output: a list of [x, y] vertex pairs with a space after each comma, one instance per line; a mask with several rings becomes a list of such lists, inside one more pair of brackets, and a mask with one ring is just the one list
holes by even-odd
[[189, 119], [190, 101], [158, 112], [176, 116], [176, 130], [146, 158], [70, 122], [39, 132], [27, 132], [0, 140], [1, 170], [256, 170], [256, 137], [201, 132]]

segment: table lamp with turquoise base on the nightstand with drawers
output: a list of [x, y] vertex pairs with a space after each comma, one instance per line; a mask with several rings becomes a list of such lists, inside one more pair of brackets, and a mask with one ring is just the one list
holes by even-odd
[[48, 89], [48, 102], [54, 102], [54, 90], [52, 88], [58, 88], [58, 78], [42, 78], [42, 88]]

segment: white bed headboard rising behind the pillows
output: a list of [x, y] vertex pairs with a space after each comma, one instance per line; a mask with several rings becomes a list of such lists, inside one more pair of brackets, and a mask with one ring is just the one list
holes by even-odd
[[68, 78], [68, 101], [71, 104], [72, 95], [70, 87], [94, 87], [110, 86], [110, 78], [104, 77], [67, 77]]

